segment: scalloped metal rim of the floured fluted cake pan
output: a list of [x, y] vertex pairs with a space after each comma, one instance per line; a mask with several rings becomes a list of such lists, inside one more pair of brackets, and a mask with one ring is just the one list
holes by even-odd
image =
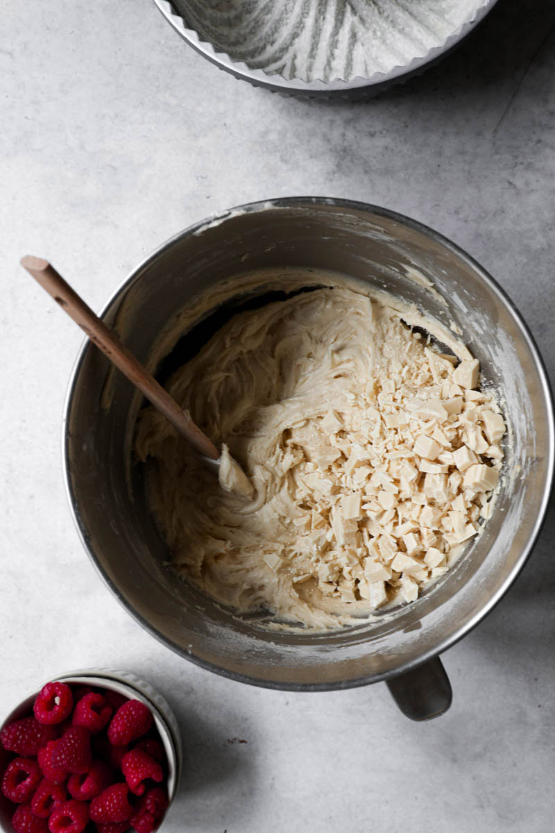
[[154, 2], [161, 15], [165, 17], [166, 22], [178, 35], [202, 57], [221, 69], [222, 72], [229, 72], [241, 81], [249, 82], [255, 87], [266, 87], [272, 92], [308, 97], [329, 97], [340, 93], [345, 96], [357, 92], [362, 94], [364, 90], [369, 88], [373, 89], [374, 92], [381, 92], [393, 83], [406, 81], [415, 73], [424, 71], [424, 68], [429, 64], [439, 61], [457, 47], [478, 26], [478, 23], [482, 22], [483, 18], [492, 11], [498, 0], [481, 0], [481, 5], [471, 13], [468, 20], [463, 22], [455, 32], [445, 39], [444, 43], [431, 47], [425, 55], [415, 57], [409, 63], [392, 67], [389, 72], [374, 72], [368, 78], [357, 76], [350, 81], [337, 78], [330, 82], [320, 79], [303, 81], [298, 77], [288, 79], [277, 73], [268, 74], [264, 70], [253, 69], [245, 62], [234, 61], [226, 52], [217, 51], [211, 42], [202, 40], [195, 29], [187, 27], [181, 13], [177, 11], [171, 0], [154, 0]]

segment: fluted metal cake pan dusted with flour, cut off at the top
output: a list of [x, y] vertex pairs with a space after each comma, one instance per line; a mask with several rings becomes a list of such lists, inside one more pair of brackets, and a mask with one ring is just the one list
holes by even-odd
[[[268, 4], [256, 0], [154, 2], [196, 52], [236, 78], [297, 97], [358, 98], [424, 72], [456, 47], [497, 0], [416, 5], [409, 0], [280, 0], [270, 4], [269, 15], [264, 12]], [[285, 14], [289, 8], [295, 14]], [[388, 8], [395, 15], [388, 17]], [[460, 13], [451, 19], [446, 8], [460, 8]], [[359, 32], [366, 32], [368, 48], [357, 42], [354, 21]], [[310, 46], [301, 48], [300, 42]], [[378, 50], [386, 53], [379, 61]], [[356, 72], [357, 66], [366, 71]]]

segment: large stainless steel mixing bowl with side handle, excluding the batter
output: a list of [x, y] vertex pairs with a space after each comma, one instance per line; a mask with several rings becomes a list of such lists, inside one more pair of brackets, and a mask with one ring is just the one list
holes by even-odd
[[[543, 363], [513, 304], [478, 263], [413, 220], [344, 200], [260, 202], [201, 222], [141, 263], [103, 317], [153, 367], [161, 332], [201, 290], [247, 270], [287, 265], [343, 272], [415, 302], [447, 326], [454, 322], [479, 358], [484, 380], [500, 393], [509, 439], [495, 511], [468, 553], [396, 616], [343, 631], [264, 631], [221, 610], [166, 566], [143, 466], [131, 450], [144, 402], [88, 343], [73, 372], [64, 424], [77, 529], [119, 601], [181, 656], [235, 680], [294, 691], [387, 680], [405, 713], [432, 716], [450, 700], [434, 658], [508, 590], [543, 521], [553, 477], [553, 404]], [[211, 327], [207, 317], [193, 335], [208, 337]], [[183, 340], [171, 347], [158, 363], [161, 377], [184, 360]]]

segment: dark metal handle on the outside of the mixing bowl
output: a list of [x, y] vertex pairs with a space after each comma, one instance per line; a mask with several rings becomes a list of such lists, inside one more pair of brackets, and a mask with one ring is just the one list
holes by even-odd
[[429, 721], [451, 705], [453, 691], [439, 656], [386, 682], [399, 709], [411, 721]]

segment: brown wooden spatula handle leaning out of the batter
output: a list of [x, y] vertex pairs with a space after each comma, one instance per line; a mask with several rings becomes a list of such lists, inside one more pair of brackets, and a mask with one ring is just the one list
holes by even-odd
[[220, 457], [220, 451], [214, 443], [203, 434], [170, 394], [156, 382], [146, 367], [143, 367], [141, 362], [137, 361], [136, 357], [121, 344], [102, 319], [95, 315], [90, 307], [87, 307], [82, 297], [77, 295], [77, 292], [64, 281], [50, 263], [40, 257], [27, 255], [22, 258], [21, 265], [49, 295], [52, 295], [54, 301], [87, 333], [91, 341], [100, 347], [112, 364], [115, 364], [123, 375], [139, 388], [148, 401], [186, 437], [196, 451], [212, 460]]

